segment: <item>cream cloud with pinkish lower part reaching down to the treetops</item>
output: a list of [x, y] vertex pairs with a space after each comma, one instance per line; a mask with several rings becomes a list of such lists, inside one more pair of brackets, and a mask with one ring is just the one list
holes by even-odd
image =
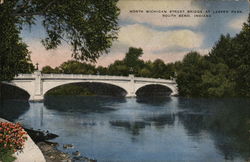
[[[101, 56], [97, 65], [108, 66], [115, 60], [122, 60], [129, 47], [143, 49], [143, 60], [160, 58], [166, 62], [181, 60], [192, 50], [199, 51], [203, 35], [191, 30], [158, 31], [143, 25], [134, 24], [120, 29], [118, 40], [108, 55]], [[208, 53], [207, 51], [202, 51]]]

